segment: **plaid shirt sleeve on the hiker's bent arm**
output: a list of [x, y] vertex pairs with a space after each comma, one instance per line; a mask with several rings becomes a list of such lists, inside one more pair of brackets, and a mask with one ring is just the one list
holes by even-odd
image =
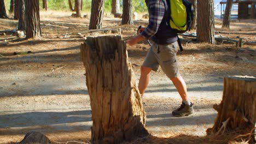
[[160, 23], [165, 15], [165, 4], [160, 0], [148, 0], [149, 25], [141, 33], [142, 37], [149, 39], [158, 32]]

